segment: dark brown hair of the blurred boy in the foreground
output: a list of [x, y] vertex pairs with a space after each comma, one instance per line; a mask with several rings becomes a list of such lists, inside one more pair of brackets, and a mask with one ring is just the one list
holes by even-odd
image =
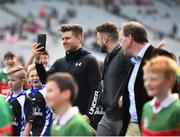
[[48, 77], [47, 82], [48, 81], [54, 81], [57, 84], [58, 88], [61, 90], [61, 92], [67, 89], [70, 90], [71, 102], [73, 102], [76, 99], [78, 94], [78, 85], [71, 74], [61, 72], [54, 73]]

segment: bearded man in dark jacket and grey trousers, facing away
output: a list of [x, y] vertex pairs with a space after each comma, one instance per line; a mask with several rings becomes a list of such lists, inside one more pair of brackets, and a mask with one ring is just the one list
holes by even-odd
[[97, 43], [107, 56], [104, 61], [102, 106], [105, 110], [98, 124], [97, 136], [118, 136], [122, 128], [120, 106], [114, 107], [120, 85], [123, 83], [130, 67], [130, 59], [123, 54], [119, 43], [118, 27], [111, 22], [96, 28]]

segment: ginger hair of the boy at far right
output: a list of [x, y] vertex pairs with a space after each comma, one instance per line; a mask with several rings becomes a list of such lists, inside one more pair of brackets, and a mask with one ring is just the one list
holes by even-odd
[[143, 66], [144, 72], [163, 73], [165, 79], [170, 81], [171, 88], [173, 88], [176, 83], [177, 70], [177, 63], [173, 59], [165, 56], [152, 58]]

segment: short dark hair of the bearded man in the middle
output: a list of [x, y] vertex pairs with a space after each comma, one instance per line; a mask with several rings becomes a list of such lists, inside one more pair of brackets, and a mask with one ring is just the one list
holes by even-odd
[[112, 41], [117, 42], [119, 40], [119, 30], [116, 24], [113, 22], [105, 22], [96, 27], [96, 31], [99, 33], [109, 34]]

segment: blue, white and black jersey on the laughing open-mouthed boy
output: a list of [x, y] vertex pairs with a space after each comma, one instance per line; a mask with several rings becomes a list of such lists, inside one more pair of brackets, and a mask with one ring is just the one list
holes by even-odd
[[38, 89], [29, 89], [26, 91], [33, 103], [33, 115], [35, 120], [32, 123], [33, 136], [50, 135], [50, 126], [52, 123], [52, 111], [47, 106], [45, 94], [47, 89], [44, 85]]

